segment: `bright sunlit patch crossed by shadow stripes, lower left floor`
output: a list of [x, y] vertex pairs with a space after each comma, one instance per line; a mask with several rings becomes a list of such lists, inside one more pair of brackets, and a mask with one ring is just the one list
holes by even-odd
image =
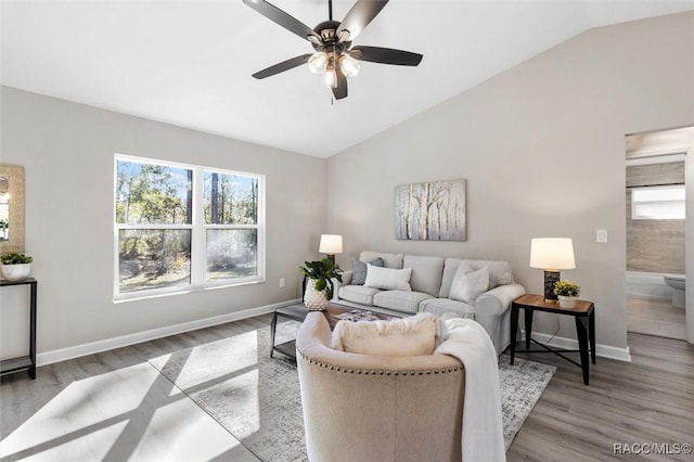
[[247, 452], [156, 369], [142, 363], [70, 384], [2, 440], [0, 457], [189, 461], [240, 450]]

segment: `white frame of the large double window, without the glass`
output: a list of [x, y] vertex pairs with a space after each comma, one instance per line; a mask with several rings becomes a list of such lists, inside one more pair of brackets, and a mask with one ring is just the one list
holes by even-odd
[[[180, 168], [193, 170], [193, 216], [191, 223], [182, 224], [127, 224], [116, 222], [116, 185], [118, 181], [118, 162], [133, 162], [139, 164], [158, 165], [163, 167]], [[114, 183], [113, 183], [113, 223], [114, 223], [114, 279], [113, 293], [114, 301], [127, 301], [141, 298], [157, 297], [163, 295], [184, 294], [190, 292], [205, 291], [209, 288], [232, 287], [245, 284], [256, 284], [266, 281], [266, 217], [265, 217], [265, 175], [252, 174], [247, 171], [229, 170], [224, 168], [182, 164], [157, 158], [130, 156], [124, 154], [114, 155]], [[205, 171], [222, 175], [235, 175], [253, 177], [258, 180], [258, 210], [256, 224], [206, 224], [204, 213], [204, 174]], [[191, 230], [191, 283], [185, 286], [163, 287], [120, 293], [120, 268], [118, 260], [118, 232], [127, 229], [190, 229]], [[257, 230], [257, 271], [256, 275], [245, 278], [233, 278], [219, 281], [206, 281], [206, 234], [208, 229], [256, 229]]]

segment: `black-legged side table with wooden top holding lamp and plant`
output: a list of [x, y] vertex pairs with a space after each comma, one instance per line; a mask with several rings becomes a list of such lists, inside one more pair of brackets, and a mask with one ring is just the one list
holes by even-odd
[[[525, 348], [524, 350], [516, 350], [516, 333], [518, 332], [518, 311], [525, 310]], [[578, 338], [578, 349], [557, 349], [550, 348], [549, 346], [536, 342], [531, 338], [532, 335], [532, 313], [535, 311], [553, 312], [555, 315], [573, 316], [576, 320], [576, 337]], [[530, 342], [541, 346], [543, 350], [530, 350]], [[590, 350], [590, 357], [595, 363], [595, 306], [592, 301], [576, 300], [574, 308], [562, 308], [556, 303], [545, 303], [542, 295], [526, 294], [523, 295], [511, 304], [511, 363], [516, 352], [553, 352], [561, 356], [565, 360], [578, 365], [583, 372], [583, 383], [588, 385], [589, 381], [589, 362], [588, 354]], [[563, 352], [578, 351], [581, 357], [580, 364], [568, 358]]]

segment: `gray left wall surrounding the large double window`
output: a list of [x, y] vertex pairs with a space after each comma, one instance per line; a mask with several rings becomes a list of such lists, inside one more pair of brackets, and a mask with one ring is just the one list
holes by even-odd
[[[324, 159], [7, 87], [0, 95], [0, 161], [26, 170], [26, 249], [39, 280], [39, 352], [300, 296], [298, 265], [318, 257], [324, 232]], [[115, 153], [266, 175], [267, 282], [114, 304]], [[280, 278], [286, 287], [279, 287]], [[13, 288], [1, 294], [2, 357], [25, 348], [24, 295]]]

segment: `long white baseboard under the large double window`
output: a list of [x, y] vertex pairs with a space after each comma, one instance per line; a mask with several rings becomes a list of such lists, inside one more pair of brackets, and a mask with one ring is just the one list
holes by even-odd
[[165, 328], [153, 329], [150, 331], [138, 332], [134, 334], [121, 335], [119, 337], [106, 338], [103, 341], [91, 342], [88, 344], [76, 345], [67, 348], [54, 349], [36, 355], [37, 365], [47, 365], [54, 362], [65, 361], [68, 359], [79, 358], [95, 352], [106, 351], [114, 348], [120, 348], [128, 345], [134, 345], [142, 342], [153, 341], [169, 335], [181, 334], [183, 332], [195, 331], [197, 329], [210, 328], [213, 325], [223, 324], [226, 322], [239, 321], [241, 319], [253, 318], [254, 316], [272, 312], [277, 308], [301, 301], [299, 298], [294, 300], [282, 301], [279, 304], [266, 305], [256, 308], [249, 308], [241, 311], [233, 311], [227, 315], [215, 316], [211, 318], [196, 319], [194, 321], [183, 322], [180, 324], [167, 325]]

